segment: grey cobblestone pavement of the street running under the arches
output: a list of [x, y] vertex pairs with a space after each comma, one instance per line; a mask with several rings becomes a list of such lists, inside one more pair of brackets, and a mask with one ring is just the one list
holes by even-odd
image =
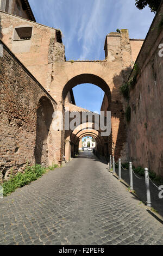
[[163, 245], [162, 224], [92, 153], [0, 199], [1, 245]]

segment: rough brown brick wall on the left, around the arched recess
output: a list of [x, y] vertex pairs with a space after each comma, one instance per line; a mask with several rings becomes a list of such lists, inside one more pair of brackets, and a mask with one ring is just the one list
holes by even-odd
[[[0, 57], [0, 88], [2, 180], [8, 177], [11, 168], [14, 172], [19, 172], [24, 169], [27, 162], [35, 164], [37, 109], [41, 106], [39, 100], [48, 101], [53, 109], [56, 103], [4, 44], [3, 57]], [[52, 134], [45, 141], [50, 146], [49, 149], [45, 149], [50, 164], [55, 161], [56, 136], [54, 133], [54, 137]]]

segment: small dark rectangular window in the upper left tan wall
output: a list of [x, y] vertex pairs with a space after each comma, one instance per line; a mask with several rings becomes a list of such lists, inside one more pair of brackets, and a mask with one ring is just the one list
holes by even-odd
[[14, 40], [28, 40], [32, 36], [32, 27], [15, 28]]

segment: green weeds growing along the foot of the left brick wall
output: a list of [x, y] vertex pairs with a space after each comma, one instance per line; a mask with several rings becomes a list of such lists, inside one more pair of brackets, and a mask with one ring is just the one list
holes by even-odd
[[48, 168], [44, 168], [40, 164], [36, 164], [36, 166], [32, 167], [27, 166], [24, 173], [17, 173], [15, 176], [11, 174], [10, 179], [8, 181], [4, 181], [2, 184], [3, 196], [8, 196], [14, 192], [16, 188], [30, 184], [30, 182], [39, 179], [44, 173], [48, 172], [48, 170], [53, 170], [57, 167], [57, 164], [49, 166]]

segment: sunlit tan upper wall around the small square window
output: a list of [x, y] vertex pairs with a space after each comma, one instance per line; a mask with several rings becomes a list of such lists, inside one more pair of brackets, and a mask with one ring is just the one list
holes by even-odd
[[[0, 11], [1, 39], [26, 68], [48, 90], [54, 79], [53, 62], [65, 61], [65, 48], [54, 28], [39, 25]], [[15, 28], [31, 27], [32, 36], [27, 40], [15, 39]]]

